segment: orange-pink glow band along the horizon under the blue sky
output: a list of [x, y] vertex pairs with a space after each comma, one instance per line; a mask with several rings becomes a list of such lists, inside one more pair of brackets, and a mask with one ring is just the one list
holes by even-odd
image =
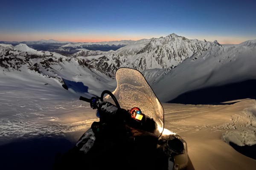
[[[207, 35], [182, 35], [188, 39], [207, 40], [213, 42], [217, 40], [220, 44], [239, 44], [247, 40], [253, 40], [250, 37], [224, 37], [224, 36], [207, 36]], [[57, 40], [69, 42], [103, 42], [103, 41], [120, 41], [120, 40], [141, 40], [150, 38], [159, 38], [163, 35], [148, 34], [81, 34], [81, 33], [14, 33], [7, 34], [0, 32], [0, 41], [38, 41], [38, 40]], [[165, 37], [164, 35], [163, 37]], [[256, 39], [256, 37], [254, 37]]]

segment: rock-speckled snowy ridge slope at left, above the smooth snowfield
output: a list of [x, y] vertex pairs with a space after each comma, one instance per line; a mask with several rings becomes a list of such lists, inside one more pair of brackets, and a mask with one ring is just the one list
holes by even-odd
[[17, 46], [22, 48], [0, 44], [0, 66], [3, 68], [3, 73], [6, 71], [37, 72], [40, 76], [54, 78], [61, 84], [63, 84], [62, 78], [83, 82], [89, 87], [89, 93], [98, 95], [104, 88], [109, 90], [114, 88], [113, 79], [105, 73], [80, 65], [77, 58], [49, 51], [31, 50], [26, 45]]

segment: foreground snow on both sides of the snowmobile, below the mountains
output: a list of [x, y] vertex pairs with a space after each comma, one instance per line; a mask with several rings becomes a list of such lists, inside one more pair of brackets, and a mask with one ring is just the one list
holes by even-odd
[[[27, 77], [27, 74], [1, 73], [0, 146], [37, 136], [63, 136], [75, 142], [98, 120], [95, 110], [78, 100], [81, 94], [65, 90], [55, 79], [38, 78], [37, 73], [29, 73]], [[256, 130], [255, 100], [244, 99], [233, 105], [163, 104], [163, 107], [165, 127], [186, 140], [196, 170], [253, 170], [256, 166], [255, 160], [224, 142], [255, 144], [255, 134], [251, 133]]]

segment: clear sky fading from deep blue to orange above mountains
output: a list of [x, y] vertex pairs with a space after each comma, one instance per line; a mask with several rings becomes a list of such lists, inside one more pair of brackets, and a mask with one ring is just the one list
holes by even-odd
[[1, 0], [0, 41], [256, 39], [255, 0]]

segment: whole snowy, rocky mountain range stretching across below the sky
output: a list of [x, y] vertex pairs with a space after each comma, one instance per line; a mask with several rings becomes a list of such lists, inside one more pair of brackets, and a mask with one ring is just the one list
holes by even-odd
[[[123, 47], [94, 51], [87, 49], [90, 45]], [[26, 44], [0, 44], [0, 74], [35, 72], [60, 83], [62, 78], [83, 82], [89, 93], [97, 94], [115, 88], [113, 78], [118, 68], [135, 68], [142, 71], [163, 102], [189, 91], [256, 79], [256, 40], [221, 45], [170, 34], [138, 41], [63, 43], [52, 51], [36, 51]]]

